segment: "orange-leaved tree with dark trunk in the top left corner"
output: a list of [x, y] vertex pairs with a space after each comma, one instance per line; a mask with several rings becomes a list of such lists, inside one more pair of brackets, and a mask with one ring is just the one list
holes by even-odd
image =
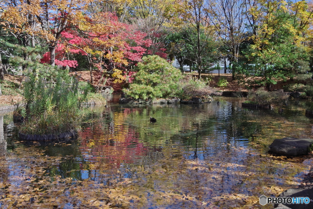
[[20, 45], [35, 47], [38, 37], [44, 39], [50, 51], [50, 64], [54, 66], [61, 33], [70, 27], [85, 25], [83, 13], [91, 3], [92, 0], [3, 0], [0, 2], [1, 25]]

